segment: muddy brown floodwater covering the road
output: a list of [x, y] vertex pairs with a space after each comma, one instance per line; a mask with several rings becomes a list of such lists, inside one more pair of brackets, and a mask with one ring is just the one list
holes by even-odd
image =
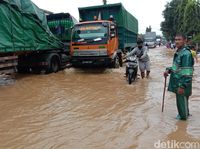
[[[160, 142], [200, 144], [200, 65], [195, 65], [192, 116], [178, 121], [166, 92], [173, 51], [150, 49], [151, 77], [128, 85], [120, 69], [66, 69], [16, 75], [0, 86], [0, 149], [151, 149]], [[199, 147], [200, 148], [200, 147]]]

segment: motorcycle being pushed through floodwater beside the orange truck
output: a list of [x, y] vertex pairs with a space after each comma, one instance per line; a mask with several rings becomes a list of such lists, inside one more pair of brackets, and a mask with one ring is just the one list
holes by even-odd
[[136, 56], [129, 56], [125, 60], [126, 63], [126, 78], [129, 84], [137, 78], [138, 72], [138, 58]]

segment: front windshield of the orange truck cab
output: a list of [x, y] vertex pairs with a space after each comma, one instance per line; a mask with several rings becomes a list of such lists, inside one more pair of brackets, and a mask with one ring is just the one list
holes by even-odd
[[102, 40], [108, 36], [108, 27], [102, 24], [82, 24], [74, 27], [72, 40], [84, 41], [84, 40]]

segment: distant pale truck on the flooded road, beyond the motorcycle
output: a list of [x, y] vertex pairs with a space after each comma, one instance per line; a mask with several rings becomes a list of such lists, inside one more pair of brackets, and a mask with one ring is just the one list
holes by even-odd
[[150, 48], [156, 47], [156, 32], [146, 32], [144, 35], [145, 45]]

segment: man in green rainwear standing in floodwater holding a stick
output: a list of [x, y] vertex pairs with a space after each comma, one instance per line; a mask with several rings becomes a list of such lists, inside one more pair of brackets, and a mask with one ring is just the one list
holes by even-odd
[[175, 44], [177, 51], [174, 54], [173, 65], [166, 69], [164, 77], [170, 74], [168, 91], [176, 94], [177, 119], [187, 120], [189, 116], [188, 100], [192, 94], [194, 60], [190, 50], [185, 46], [186, 37], [183, 34], [176, 35]]

